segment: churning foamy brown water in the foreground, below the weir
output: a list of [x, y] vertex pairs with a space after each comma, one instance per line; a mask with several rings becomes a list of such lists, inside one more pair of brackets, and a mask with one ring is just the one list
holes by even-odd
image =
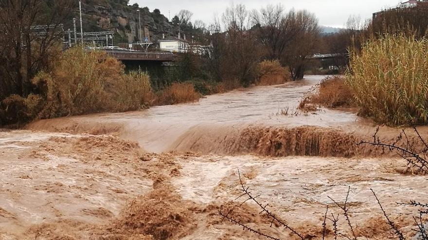
[[[148, 154], [114, 135], [0, 132], [0, 239], [263, 239], [221, 221], [223, 205], [244, 224], [295, 239], [251, 202], [236, 199], [240, 182], [308, 239], [320, 239], [328, 196], [349, 207], [356, 234], [392, 239], [371, 195], [377, 192], [400, 229], [411, 235], [426, 180], [403, 175], [394, 159]], [[342, 218], [339, 230], [349, 234]], [[328, 226], [331, 230], [331, 226]], [[332, 238], [331, 232], [329, 238]]]

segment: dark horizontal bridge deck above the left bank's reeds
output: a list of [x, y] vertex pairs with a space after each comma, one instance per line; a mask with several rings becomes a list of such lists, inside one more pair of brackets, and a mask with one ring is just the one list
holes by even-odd
[[159, 52], [126, 52], [126, 51], [106, 51], [108, 55], [125, 61], [162, 61], [172, 62], [175, 60], [173, 53]]

